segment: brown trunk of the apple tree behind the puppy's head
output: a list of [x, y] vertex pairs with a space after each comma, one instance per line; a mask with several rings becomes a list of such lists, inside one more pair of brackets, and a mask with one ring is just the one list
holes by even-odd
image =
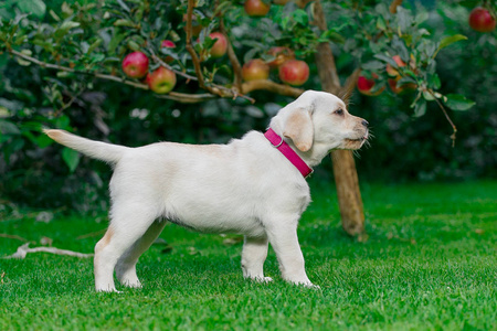
[[[325, 14], [319, 1], [314, 2], [314, 19], [315, 24], [320, 30], [327, 30]], [[343, 90], [340, 86], [335, 57], [329, 43], [318, 45], [316, 65], [322, 90], [336, 95], [342, 94]], [[350, 86], [347, 86], [348, 88]], [[347, 103], [347, 100], [345, 102]], [[331, 159], [342, 227], [349, 235], [361, 235], [364, 232], [364, 211], [352, 152], [349, 150], [335, 150], [331, 151]]]

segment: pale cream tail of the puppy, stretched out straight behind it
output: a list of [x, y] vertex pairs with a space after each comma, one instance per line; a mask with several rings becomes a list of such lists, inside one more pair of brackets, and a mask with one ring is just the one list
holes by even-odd
[[108, 163], [117, 163], [128, 147], [89, 140], [64, 130], [44, 129], [50, 138], [56, 142], [74, 149], [85, 156], [98, 159]]

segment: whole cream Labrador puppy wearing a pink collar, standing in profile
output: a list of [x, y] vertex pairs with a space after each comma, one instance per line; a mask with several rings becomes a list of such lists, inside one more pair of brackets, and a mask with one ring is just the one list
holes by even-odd
[[95, 288], [116, 291], [117, 279], [141, 287], [136, 264], [169, 221], [205, 233], [244, 235], [246, 278], [271, 281], [263, 265], [268, 243], [282, 277], [313, 286], [297, 238], [310, 202], [305, 177], [332, 149], [359, 149], [368, 121], [350, 115], [332, 94], [307, 90], [281, 109], [266, 134], [250, 131], [228, 145], [159, 142], [128, 148], [63, 130], [46, 135], [110, 163], [110, 224], [95, 246]]

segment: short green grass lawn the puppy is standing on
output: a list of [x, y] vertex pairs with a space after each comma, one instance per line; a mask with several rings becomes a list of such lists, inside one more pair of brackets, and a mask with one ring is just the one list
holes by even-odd
[[[343, 235], [332, 186], [314, 179], [311, 192], [299, 238], [321, 290], [284, 282], [273, 253], [265, 270], [275, 281], [246, 281], [241, 244], [168, 225], [172, 250], [152, 246], [138, 265], [145, 287], [121, 295], [94, 292], [89, 259], [0, 259], [0, 329], [497, 329], [496, 181], [363, 184], [366, 243]], [[0, 222], [0, 233], [84, 253], [98, 237], [76, 237], [105, 227], [76, 215]], [[0, 238], [0, 256], [20, 244]]]

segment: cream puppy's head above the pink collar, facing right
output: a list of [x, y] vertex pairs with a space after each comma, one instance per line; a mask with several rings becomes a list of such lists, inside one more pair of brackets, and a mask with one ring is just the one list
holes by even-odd
[[369, 137], [368, 121], [352, 116], [346, 104], [332, 94], [307, 90], [281, 109], [271, 127], [292, 139], [303, 152], [314, 147], [326, 149], [359, 149]]

